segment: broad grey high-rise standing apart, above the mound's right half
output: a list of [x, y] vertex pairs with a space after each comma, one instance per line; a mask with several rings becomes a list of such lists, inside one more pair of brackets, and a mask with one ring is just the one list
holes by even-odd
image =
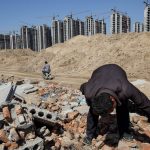
[[111, 14], [111, 33], [128, 33], [131, 31], [131, 19], [126, 14], [112, 11]]

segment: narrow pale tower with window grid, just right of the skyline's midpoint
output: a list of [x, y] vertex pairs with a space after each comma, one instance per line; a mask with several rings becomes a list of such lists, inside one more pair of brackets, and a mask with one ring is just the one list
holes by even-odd
[[92, 16], [87, 16], [85, 20], [85, 35], [94, 35], [94, 19]]

